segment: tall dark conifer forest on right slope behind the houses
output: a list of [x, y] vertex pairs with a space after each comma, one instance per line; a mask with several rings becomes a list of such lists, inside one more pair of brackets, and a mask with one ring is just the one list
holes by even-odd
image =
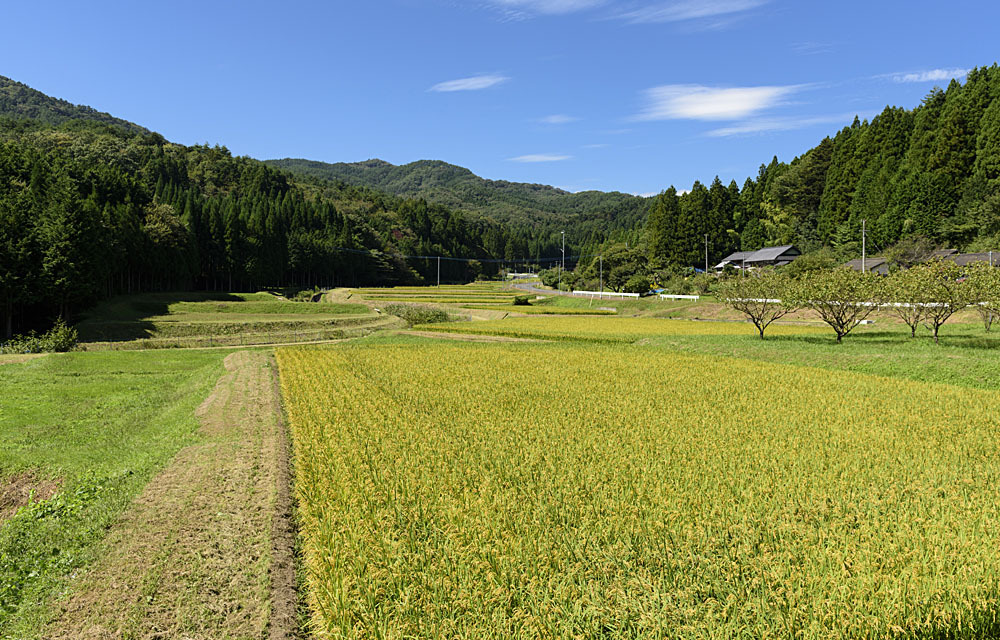
[[795, 244], [842, 258], [906, 238], [1000, 248], [1000, 69], [973, 69], [912, 110], [886, 107], [790, 163], [774, 158], [742, 188], [695, 183], [658, 196], [646, 228], [655, 265], [702, 266], [731, 251]]

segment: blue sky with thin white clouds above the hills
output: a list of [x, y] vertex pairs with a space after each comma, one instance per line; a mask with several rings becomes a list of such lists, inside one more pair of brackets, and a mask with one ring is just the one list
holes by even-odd
[[[148, 6], [146, 6], [148, 5]], [[998, 55], [954, 0], [34, 2], [0, 75], [255, 158], [445, 160], [654, 193], [742, 185], [855, 114], [913, 107]]]

